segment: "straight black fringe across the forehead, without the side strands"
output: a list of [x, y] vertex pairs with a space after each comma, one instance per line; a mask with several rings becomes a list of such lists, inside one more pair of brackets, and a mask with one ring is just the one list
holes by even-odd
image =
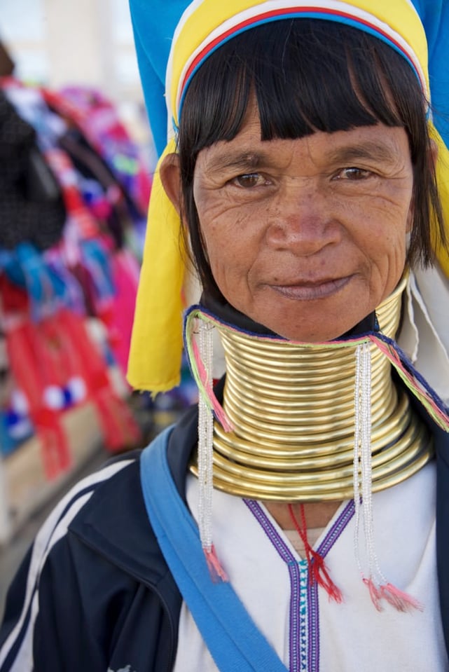
[[202, 64], [186, 92], [180, 151], [186, 140], [196, 158], [233, 139], [253, 96], [263, 140], [378, 122], [410, 137], [410, 107], [416, 116], [426, 105], [413, 69], [379, 39], [329, 20], [275, 21], [233, 37]]

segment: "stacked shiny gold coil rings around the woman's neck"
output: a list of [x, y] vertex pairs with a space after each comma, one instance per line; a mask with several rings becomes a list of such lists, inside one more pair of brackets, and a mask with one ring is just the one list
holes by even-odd
[[[380, 328], [399, 327], [403, 278], [377, 310]], [[214, 423], [214, 487], [259, 500], [351, 498], [355, 349], [309, 347], [219, 325], [226, 358], [223, 408], [233, 432]], [[432, 455], [426, 427], [396, 389], [391, 364], [371, 349], [373, 491], [399, 483]], [[194, 458], [195, 459], [195, 458]], [[194, 473], [198, 473], [195, 463]]]

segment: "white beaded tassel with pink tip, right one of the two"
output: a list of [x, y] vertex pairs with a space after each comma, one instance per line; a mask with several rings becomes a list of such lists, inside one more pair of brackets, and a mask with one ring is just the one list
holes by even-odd
[[[360, 481], [359, 482], [359, 472]], [[371, 600], [382, 611], [382, 599], [401, 612], [422, 609], [412, 596], [389, 583], [380, 570], [374, 543], [373, 494], [371, 490], [371, 351], [368, 343], [357, 345], [354, 391], [354, 547], [361, 578]], [[360, 519], [363, 517], [368, 577], [359, 552]]]

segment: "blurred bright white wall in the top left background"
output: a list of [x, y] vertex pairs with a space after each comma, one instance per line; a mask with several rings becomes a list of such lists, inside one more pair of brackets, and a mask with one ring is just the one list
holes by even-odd
[[142, 100], [127, 0], [0, 0], [0, 37], [21, 79]]

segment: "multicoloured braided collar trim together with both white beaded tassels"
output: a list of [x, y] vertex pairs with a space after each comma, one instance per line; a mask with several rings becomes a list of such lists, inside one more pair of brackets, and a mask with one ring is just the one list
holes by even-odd
[[[184, 322], [184, 342], [188, 352], [188, 361], [191, 366], [193, 377], [198, 385], [200, 392], [200, 448], [198, 457], [198, 468], [200, 469], [200, 491], [204, 488], [201, 499], [201, 521], [200, 535], [205, 556], [209, 565], [209, 570], [214, 580], [226, 580], [226, 574], [214, 551], [212, 543], [212, 460], [213, 460], [213, 418], [219, 422], [225, 432], [233, 431], [226, 412], [216, 399], [212, 388], [212, 342], [207, 345], [207, 338], [201, 341], [200, 348], [193, 337], [196, 333], [198, 322], [204, 324], [205, 328], [220, 325], [221, 328], [228, 329], [230, 332], [239, 333], [239, 329], [232, 324], [225, 324], [218, 317], [209, 313], [201, 306], [192, 306]], [[206, 326], [207, 325], [207, 326]], [[201, 331], [201, 329], [200, 329]], [[246, 332], [245, 332], [246, 333]], [[260, 336], [258, 334], [249, 334], [253, 338], [261, 341], [283, 341], [280, 337]], [[202, 345], [201, 345], [202, 343]], [[382, 609], [382, 601], [385, 599], [399, 611], [411, 609], [422, 609], [422, 605], [412, 596], [400, 591], [393, 584], [387, 582], [385, 576], [380, 570], [378, 557], [375, 553], [374, 535], [373, 535], [373, 505], [372, 505], [372, 474], [371, 474], [371, 343], [382, 352], [392, 363], [403, 383], [412, 392], [415, 397], [423, 404], [431, 418], [435, 420], [439, 427], [445, 432], [449, 432], [449, 409], [438, 398], [434, 390], [431, 390], [428, 383], [420, 376], [406, 355], [399, 346], [380, 331], [368, 332], [355, 338], [347, 340], [340, 339], [326, 343], [293, 343], [301, 348], [355, 348], [356, 352], [356, 380], [354, 396], [354, 506], [355, 506], [355, 530], [354, 546], [357, 565], [361, 578], [370, 591], [371, 599], [378, 610]], [[200, 352], [202, 350], [202, 352]], [[207, 354], [209, 352], [209, 355]], [[207, 419], [208, 418], [208, 419]], [[212, 427], [208, 424], [212, 423]], [[210, 451], [210, 453], [208, 453]], [[208, 456], [209, 455], [209, 456]], [[209, 460], [209, 461], [208, 461]], [[209, 474], [209, 475], [207, 475]], [[210, 488], [209, 494], [207, 488]], [[361, 521], [363, 522], [363, 533], [361, 533]], [[209, 530], [209, 531], [208, 531]], [[362, 568], [362, 562], [359, 554], [359, 540], [363, 534], [364, 542], [362, 547], [366, 550], [366, 572]], [[365, 562], [365, 561], [364, 561]], [[312, 563], [315, 565], [315, 563]], [[317, 571], [318, 580], [322, 568], [319, 562], [313, 567]], [[322, 575], [323, 577], [323, 575]], [[328, 586], [329, 587], [329, 586]]]

